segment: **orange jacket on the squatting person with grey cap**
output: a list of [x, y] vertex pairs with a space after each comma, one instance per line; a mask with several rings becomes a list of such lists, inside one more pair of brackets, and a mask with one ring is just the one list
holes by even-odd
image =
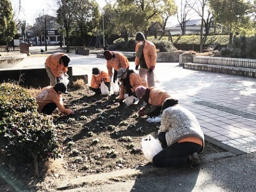
[[[142, 78], [137, 73], [131, 73], [130, 74], [130, 84], [131, 84], [131, 91], [134, 92], [137, 87], [144, 86], [147, 87], [147, 82], [145, 78]], [[123, 100], [125, 99], [125, 93], [126, 93], [126, 87], [121, 83], [120, 86], [120, 93], [119, 93], [119, 99]]]

